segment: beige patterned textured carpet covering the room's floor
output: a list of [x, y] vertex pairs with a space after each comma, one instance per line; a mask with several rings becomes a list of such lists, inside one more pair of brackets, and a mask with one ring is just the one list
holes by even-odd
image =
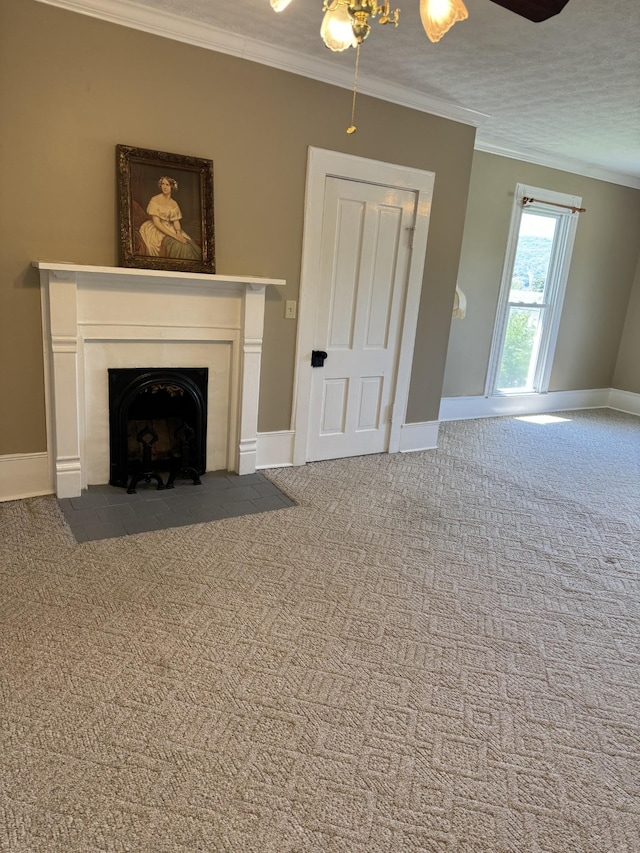
[[638, 853], [640, 420], [566, 417], [82, 545], [0, 505], [2, 853]]

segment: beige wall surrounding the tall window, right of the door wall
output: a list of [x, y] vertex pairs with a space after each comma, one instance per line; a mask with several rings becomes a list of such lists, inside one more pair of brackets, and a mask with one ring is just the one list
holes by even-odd
[[[638, 263], [640, 192], [476, 152], [459, 274], [459, 285], [468, 298], [467, 316], [452, 324], [443, 396], [484, 392], [517, 183], [579, 195], [587, 208], [578, 223], [549, 390], [609, 388], [613, 384]], [[636, 354], [639, 320], [636, 314]], [[637, 361], [635, 367], [629, 362], [627, 370], [621, 368], [618, 375], [627, 383], [634, 375], [638, 390]]]

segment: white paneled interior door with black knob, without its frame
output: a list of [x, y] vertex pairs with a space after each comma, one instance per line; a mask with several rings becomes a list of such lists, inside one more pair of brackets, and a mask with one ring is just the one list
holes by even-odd
[[327, 177], [307, 459], [389, 448], [417, 192]]

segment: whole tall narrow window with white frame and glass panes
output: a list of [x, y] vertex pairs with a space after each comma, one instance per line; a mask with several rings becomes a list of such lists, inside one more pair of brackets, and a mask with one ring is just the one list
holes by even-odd
[[[525, 197], [535, 200], [525, 206]], [[549, 388], [578, 221], [571, 208], [581, 202], [577, 196], [516, 187], [487, 396], [540, 394]]]

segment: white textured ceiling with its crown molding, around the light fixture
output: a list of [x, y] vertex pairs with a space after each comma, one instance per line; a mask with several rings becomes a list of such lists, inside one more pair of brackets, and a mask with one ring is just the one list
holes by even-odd
[[[44, 0], [351, 87], [355, 52], [322, 44], [322, 0]], [[373, 24], [362, 92], [478, 127], [476, 147], [640, 187], [640, 3], [569, 0], [534, 24], [490, 0], [434, 45], [418, 0]], [[393, 8], [393, 4], [392, 4]], [[350, 116], [336, 115], [336, 121]], [[366, 132], [362, 128], [358, 132]]]

